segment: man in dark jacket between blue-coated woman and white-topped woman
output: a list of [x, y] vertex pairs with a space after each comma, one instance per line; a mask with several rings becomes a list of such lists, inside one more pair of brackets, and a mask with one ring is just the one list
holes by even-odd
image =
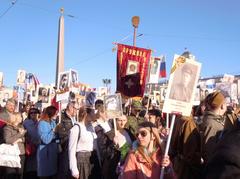
[[76, 122], [78, 105], [75, 101], [68, 103], [66, 110], [62, 113], [61, 122], [57, 126], [56, 133], [60, 138], [62, 151], [59, 153], [58, 178], [70, 178], [69, 159], [68, 159], [68, 140], [70, 129]]

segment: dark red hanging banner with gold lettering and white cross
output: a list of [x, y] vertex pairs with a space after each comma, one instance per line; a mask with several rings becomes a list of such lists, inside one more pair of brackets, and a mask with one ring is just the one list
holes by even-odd
[[128, 97], [144, 94], [151, 50], [118, 44], [117, 91]]

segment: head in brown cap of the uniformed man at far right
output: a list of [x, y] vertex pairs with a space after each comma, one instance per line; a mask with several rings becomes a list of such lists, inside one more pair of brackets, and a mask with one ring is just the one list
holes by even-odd
[[225, 97], [220, 91], [208, 94], [205, 105], [208, 111], [215, 112], [218, 115], [223, 115], [227, 110]]

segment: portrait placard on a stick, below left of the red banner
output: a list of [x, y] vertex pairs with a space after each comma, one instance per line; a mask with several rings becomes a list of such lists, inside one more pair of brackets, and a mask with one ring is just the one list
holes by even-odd
[[108, 118], [118, 118], [123, 115], [121, 94], [106, 95], [103, 99], [104, 109]]

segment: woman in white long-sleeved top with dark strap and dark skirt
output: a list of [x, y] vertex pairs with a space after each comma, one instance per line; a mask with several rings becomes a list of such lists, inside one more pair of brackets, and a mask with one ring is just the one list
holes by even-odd
[[94, 110], [81, 107], [78, 120], [69, 136], [69, 166], [74, 178], [94, 179], [100, 177], [99, 160], [97, 156], [96, 133], [92, 126]]

